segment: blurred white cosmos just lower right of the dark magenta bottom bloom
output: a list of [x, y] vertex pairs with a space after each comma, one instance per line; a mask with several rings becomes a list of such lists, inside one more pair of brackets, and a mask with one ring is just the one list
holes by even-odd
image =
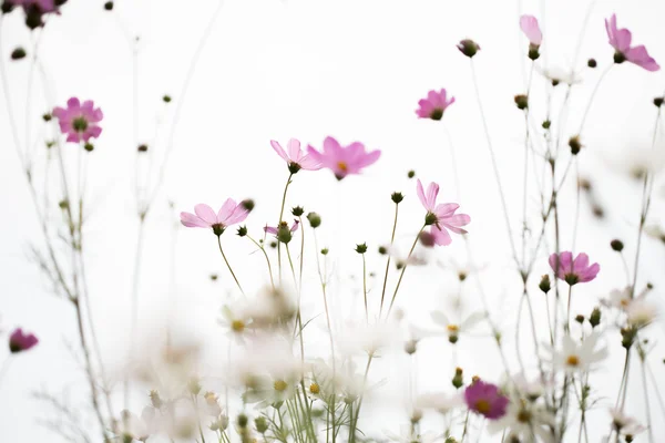
[[505, 415], [490, 422], [488, 431], [491, 434], [507, 432], [507, 442], [514, 440], [521, 443], [553, 443], [554, 439], [548, 426], [555, 423], [554, 415], [543, 405], [513, 398], [508, 404]]

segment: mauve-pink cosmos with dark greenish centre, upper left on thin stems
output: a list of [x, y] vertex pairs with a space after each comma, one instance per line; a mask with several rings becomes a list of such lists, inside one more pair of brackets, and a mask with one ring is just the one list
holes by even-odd
[[104, 114], [99, 107], [94, 107], [91, 100], [86, 100], [81, 105], [76, 97], [66, 101], [66, 109], [55, 107], [53, 115], [60, 122], [60, 131], [66, 134], [66, 141], [79, 143], [88, 142], [91, 137], [99, 137], [102, 128], [98, 125]]

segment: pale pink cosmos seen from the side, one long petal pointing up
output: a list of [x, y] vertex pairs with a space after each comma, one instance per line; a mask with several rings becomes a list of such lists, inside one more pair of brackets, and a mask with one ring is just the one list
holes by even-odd
[[417, 185], [418, 198], [427, 209], [424, 224], [431, 225], [430, 234], [434, 244], [439, 246], [448, 246], [452, 243], [448, 229], [456, 234], [467, 234], [467, 230], [461, 226], [471, 223], [471, 217], [467, 214], [454, 214], [460, 207], [457, 203], [442, 203], [437, 205], [437, 196], [439, 195], [439, 185], [430, 183], [427, 187], [427, 194], [422, 188], [422, 183], [418, 179]]

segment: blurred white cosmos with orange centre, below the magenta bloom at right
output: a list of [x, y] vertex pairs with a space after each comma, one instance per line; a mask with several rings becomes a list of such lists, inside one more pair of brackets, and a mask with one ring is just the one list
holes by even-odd
[[561, 349], [552, 353], [553, 364], [566, 373], [589, 372], [595, 369], [596, 363], [607, 357], [607, 348], [598, 349], [598, 339], [600, 334], [596, 332], [587, 336], [581, 343], [569, 334], [563, 336]]

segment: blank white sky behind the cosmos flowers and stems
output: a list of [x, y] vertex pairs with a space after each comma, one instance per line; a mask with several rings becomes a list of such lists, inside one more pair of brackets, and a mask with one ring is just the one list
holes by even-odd
[[[590, 9], [591, 3], [594, 4]], [[398, 230], [403, 248], [420, 227], [423, 212], [416, 198], [416, 183], [407, 179], [407, 171], [415, 169], [424, 182], [439, 182], [442, 200], [456, 198], [443, 127], [417, 120], [413, 112], [419, 99], [440, 87], [457, 97], [446, 113], [444, 124], [458, 153], [460, 204], [463, 213], [472, 217], [469, 231], [474, 258], [487, 265], [481, 276], [491, 313], [505, 329], [505, 347], [514, 356], [510, 330], [514, 326], [520, 281], [510, 258], [469, 60], [454, 45], [460, 39], [472, 38], [482, 48], [474, 61], [518, 238], [524, 127], [513, 95], [525, 92], [529, 72], [528, 42], [520, 33], [519, 16], [532, 13], [543, 27], [544, 55], [539, 65], [548, 63], [570, 70], [585, 16], [591, 11], [575, 64], [583, 83], [573, 90], [570, 117], [573, 123], [565, 132], [567, 137], [573, 135], [597, 78], [612, 60], [603, 20], [616, 12], [620, 27], [631, 29], [634, 41], [645, 44], [664, 64], [665, 3], [659, 0], [227, 0], [203, 48], [186, 96], [178, 96], [193, 54], [217, 7], [216, 0], [121, 0], [115, 2], [113, 12], [106, 12], [103, 1], [71, 0], [62, 8], [61, 17], [49, 20], [39, 43], [39, 59], [55, 103], [44, 100], [42, 78], [35, 72], [28, 132], [38, 150], [45, 132], [40, 116], [52, 105], [63, 105], [70, 96], [91, 99], [105, 115], [104, 132], [90, 155], [88, 200], [92, 213], [85, 234], [91, 303], [110, 368], [122, 367], [130, 340], [145, 347], [163, 334], [170, 312], [178, 313], [180, 329], [188, 337], [205, 341], [205, 354], [209, 361], [216, 361], [213, 356], [221, 352], [216, 343], [223, 339], [216, 323], [218, 309], [233, 290], [233, 281], [222, 267], [209, 233], [178, 228], [174, 237], [176, 214], [192, 210], [197, 203], [218, 207], [227, 197], [250, 197], [257, 206], [247, 225], [258, 237], [262, 226], [274, 224], [287, 175], [282, 159], [269, 146], [272, 138], [285, 143], [297, 137], [320, 147], [324, 137], [332, 135], [341, 143], [357, 140], [370, 150], [383, 151], [380, 161], [365, 174], [341, 183], [328, 172], [303, 172], [295, 177], [289, 194], [287, 207], [303, 205], [324, 217], [319, 240], [321, 246], [330, 247], [330, 260], [336, 264], [337, 285], [331, 290], [338, 300], [334, 301], [334, 310], [339, 312], [341, 322], [349, 310], [342, 309], [339, 300], [348, 301], [350, 297], [342, 296], [357, 295], [359, 288], [361, 265], [352, 251], [355, 244], [367, 241], [370, 246], [370, 270], [380, 274], [383, 267], [376, 248], [389, 239], [391, 192], [401, 190], [406, 195]], [[134, 37], [139, 38], [137, 44], [133, 43]], [[19, 12], [2, 21], [1, 41], [4, 60], [9, 60], [9, 53], [18, 45], [25, 48], [29, 56], [34, 51], [34, 40], [24, 29]], [[133, 51], [137, 51], [137, 137], [133, 133]], [[590, 56], [598, 61], [595, 71], [585, 68]], [[531, 106], [539, 122], [544, 115], [545, 82], [534, 75]], [[9, 100], [21, 136], [25, 133], [29, 76], [28, 59], [8, 62]], [[561, 87], [555, 100], [562, 99]], [[662, 95], [664, 89], [662, 72], [649, 73], [625, 63], [610, 72], [591, 111], [580, 168], [595, 185], [605, 218], [594, 218], [583, 198], [576, 250], [587, 251], [602, 270], [596, 281], [579, 289], [574, 307], [582, 313], [589, 313], [597, 298], [610, 289], [625, 286], [621, 260], [611, 251], [608, 241], [621, 238], [628, 257], [634, 254], [641, 185], [630, 177], [628, 169], [634, 158], [651, 147], [656, 113], [652, 100]], [[164, 106], [161, 101], [164, 94], [173, 95], [174, 103]], [[165, 185], [147, 219], [140, 333], [129, 337], [137, 225], [132, 182], [136, 145], [146, 143], [156, 155], [164, 151], [173, 111], [181, 100], [184, 103]], [[663, 146], [662, 138], [658, 143]], [[69, 392], [74, 403], [86, 404], [85, 399], [76, 396], [84, 389], [84, 377], [69, 350], [70, 343], [78, 349], [73, 310], [51, 296], [49, 285], [30, 259], [29, 246], [41, 246], [42, 238], [4, 106], [0, 106], [0, 207], [6, 214], [0, 217], [1, 324], [4, 331], [21, 326], [41, 340], [38, 348], [12, 362], [2, 380], [0, 441], [55, 442], [59, 440], [53, 433], [37, 424], [38, 420], [52, 418], [52, 412], [32, 399], [31, 393], [48, 390], [66, 395]], [[657, 192], [654, 217], [663, 214], [662, 189]], [[573, 187], [569, 187], [563, 197], [567, 204], [562, 208], [564, 248], [572, 244], [573, 197]], [[174, 202], [175, 210], [168, 208], [170, 200]], [[532, 195], [530, 210], [534, 223], [539, 204], [535, 194]], [[649, 220], [653, 223], [657, 218]], [[225, 235], [224, 240], [246, 290], [265, 285], [263, 258], [249, 255], [254, 250], [252, 245], [232, 235]], [[174, 241], [175, 268], [172, 268]], [[320, 295], [316, 291], [314, 249], [310, 244], [308, 248], [311, 256], [306, 267], [316, 315]], [[646, 239], [643, 254], [641, 281], [653, 281], [661, 301], [665, 249], [662, 243]], [[437, 249], [436, 255], [444, 264], [467, 261], [459, 237], [452, 246]], [[541, 251], [541, 256], [533, 272], [533, 288], [538, 277], [548, 270], [546, 255]], [[175, 276], [171, 275], [172, 269], [176, 270]], [[211, 272], [219, 274], [217, 282], [209, 280]], [[350, 279], [350, 275], [356, 279]], [[407, 272], [398, 305], [409, 319], [429, 326], [427, 312], [441, 308], [444, 297], [458, 290], [454, 276], [436, 265], [412, 268]], [[538, 295], [535, 290], [533, 293]], [[471, 310], [480, 309], [473, 286], [467, 285], [462, 297]], [[542, 310], [542, 300], [534, 298], [534, 303]], [[654, 336], [662, 337], [659, 326], [652, 328], [658, 332]], [[608, 338], [614, 340], [612, 349], [616, 352], [600, 371], [595, 384], [592, 380], [605, 406], [616, 395], [623, 359], [617, 337]], [[525, 350], [530, 343], [525, 337]], [[422, 354], [426, 353], [429, 357], [419, 360], [418, 384], [424, 391], [447, 389], [454, 364], [451, 347], [442, 339], [431, 340], [422, 344]], [[663, 357], [663, 350], [656, 349], [651, 360], [661, 380]], [[501, 375], [495, 348], [487, 337], [466, 343], [462, 340], [456, 361], [469, 375], [479, 373], [488, 380], [499, 380]], [[214, 368], [218, 367], [209, 363], [201, 370], [214, 379], [218, 375]], [[610, 385], [611, 389], [606, 388]], [[642, 385], [635, 378], [626, 410], [644, 418], [641, 392]], [[135, 402], [136, 410], [141, 404]], [[371, 403], [368, 409], [372, 409]], [[382, 411], [378, 405], [374, 410]], [[652, 404], [652, 410], [657, 425], [655, 435], [664, 435], [665, 422], [658, 420], [664, 412], [656, 404]], [[403, 410], [380, 413], [385, 421], [381, 427], [393, 432], [395, 423], [406, 422]], [[608, 429], [608, 414], [602, 406], [591, 412], [590, 420]]]

